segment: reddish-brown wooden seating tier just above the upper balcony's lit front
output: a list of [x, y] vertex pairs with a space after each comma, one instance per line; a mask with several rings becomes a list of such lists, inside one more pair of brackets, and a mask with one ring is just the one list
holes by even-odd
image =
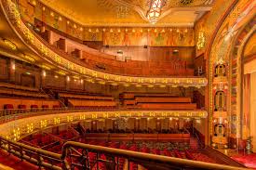
[[[177, 60], [175, 62], [157, 62], [157, 61], [135, 61], [116, 60], [115, 56], [101, 53], [98, 50], [81, 45], [58, 33], [47, 30], [41, 33], [41, 36], [47, 40], [55, 50], [64, 56], [82, 59], [84, 64], [94, 70], [101, 72], [115, 72], [128, 75], [184, 75], [194, 76], [194, 70], [187, 68], [186, 61]], [[59, 49], [58, 49], [59, 48]], [[69, 49], [69, 50], [68, 50]], [[70, 51], [73, 49], [74, 51]], [[62, 51], [62, 52], [61, 52]], [[148, 68], [148, 69], [146, 69]], [[153, 69], [154, 68], [154, 69]]]

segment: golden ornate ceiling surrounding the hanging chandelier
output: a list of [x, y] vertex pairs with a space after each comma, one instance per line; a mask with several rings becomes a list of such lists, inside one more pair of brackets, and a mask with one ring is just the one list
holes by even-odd
[[[152, 26], [147, 12], [152, 0], [41, 0], [61, 15], [85, 26]], [[155, 26], [194, 26], [213, 0], [163, 0]]]

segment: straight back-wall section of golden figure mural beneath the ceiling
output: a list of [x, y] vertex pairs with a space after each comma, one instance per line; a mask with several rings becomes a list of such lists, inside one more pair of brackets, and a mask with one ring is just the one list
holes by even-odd
[[111, 29], [103, 33], [103, 44], [109, 46], [195, 46], [195, 40], [193, 29]]

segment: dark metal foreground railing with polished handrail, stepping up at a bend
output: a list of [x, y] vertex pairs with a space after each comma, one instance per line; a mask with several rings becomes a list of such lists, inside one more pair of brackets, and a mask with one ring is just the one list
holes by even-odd
[[[180, 158], [142, 153], [138, 151], [120, 150], [120, 149], [106, 148], [106, 147], [95, 146], [95, 145], [88, 145], [88, 144], [83, 144], [83, 143], [74, 142], [74, 141], [66, 142], [62, 147], [61, 154], [53, 153], [47, 150], [41, 150], [38, 148], [27, 146], [19, 142], [10, 141], [4, 137], [0, 137], [0, 148], [3, 150], [7, 150], [9, 153], [14, 154], [15, 156], [19, 157], [22, 160], [26, 160], [27, 162], [34, 163], [39, 167], [46, 167], [54, 170], [61, 170], [61, 169], [69, 170], [71, 169], [71, 167], [75, 167], [79, 163], [81, 163], [81, 165], [85, 167], [88, 164], [88, 162], [90, 162], [88, 158], [88, 151], [94, 152], [97, 154], [97, 160], [96, 160], [97, 163], [103, 162], [103, 160], [100, 160], [100, 155], [105, 154], [105, 155], [108, 155], [108, 157], [114, 158], [114, 161], [116, 158], [125, 158], [128, 160], [128, 163], [129, 162], [138, 163], [149, 169], [152, 169], [154, 167], [161, 167], [162, 169], [169, 169], [171, 167], [174, 167], [175, 169], [186, 169], [186, 168], [197, 169], [198, 168], [198, 169], [217, 169], [217, 170], [218, 169], [248, 170], [248, 168], [243, 168], [243, 167], [230, 166], [230, 165], [217, 164], [217, 163], [203, 163], [203, 162], [185, 160]], [[77, 151], [77, 149], [85, 150], [84, 154], [86, 155], [83, 155], [84, 159], [77, 159], [78, 163], [68, 162], [67, 160], [69, 158], [80, 157], [79, 156], [80, 152]], [[71, 150], [74, 150], [76, 154], [72, 154]], [[35, 157], [37, 157], [38, 159], [35, 159]], [[47, 159], [48, 162], [46, 162], [44, 159]], [[57, 162], [57, 163], [54, 163], [54, 162]], [[107, 162], [107, 160], [105, 162], [110, 163], [109, 161]], [[115, 165], [117, 165], [118, 167], [118, 162], [113, 164], [113, 166]], [[88, 169], [93, 169], [93, 168], [88, 166]]]

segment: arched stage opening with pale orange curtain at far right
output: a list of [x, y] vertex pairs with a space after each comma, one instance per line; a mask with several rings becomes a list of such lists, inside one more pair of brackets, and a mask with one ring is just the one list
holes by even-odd
[[241, 78], [242, 78], [242, 137], [251, 138], [252, 150], [256, 152], [256, 53], [255, 32], [249, 37], [246, 45], [243, 47], [241, 56]]

